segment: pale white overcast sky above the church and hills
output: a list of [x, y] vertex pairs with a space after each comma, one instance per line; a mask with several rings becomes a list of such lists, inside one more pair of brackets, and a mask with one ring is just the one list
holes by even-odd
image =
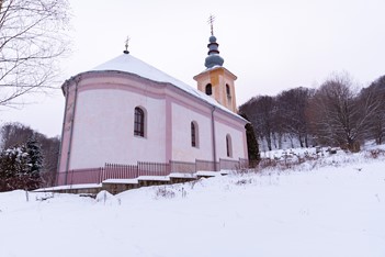
[[70, 55], [57, 90], [1, 109], [0, 124], [21, 122], [48, 136], [61, 133], [61, 83], [124, 51], [196, 88], [214, 34], [224, 67], [234, 72], [237, 104], [258, 94], [316, 88], [336, 72], [366, 87], [385, 75], [384, 0], [69, 0]]

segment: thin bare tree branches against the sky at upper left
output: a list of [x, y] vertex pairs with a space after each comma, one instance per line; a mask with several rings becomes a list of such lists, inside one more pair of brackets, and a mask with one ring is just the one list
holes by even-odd
[[0, 105], [53, 87], [68, 8], [67, 0], [0, 0]]

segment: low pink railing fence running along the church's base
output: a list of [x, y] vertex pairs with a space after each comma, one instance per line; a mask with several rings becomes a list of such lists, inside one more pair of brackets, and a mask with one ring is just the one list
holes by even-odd
[[218, 171], [220, 169], [239, 169], [248, 166], [247, 159], [219, 161], [200, 160], [195, 163], [174, 161], [169, 163], [145, 163], [137, 165], [105, 164], [104, 167], [90, 169], [75, 169], [59, 172], [56, 185], [101, 183], [106, 179], [134, 179], [140, 176], [168, 176], [171, 172], [194, 174], [196, 171]]

